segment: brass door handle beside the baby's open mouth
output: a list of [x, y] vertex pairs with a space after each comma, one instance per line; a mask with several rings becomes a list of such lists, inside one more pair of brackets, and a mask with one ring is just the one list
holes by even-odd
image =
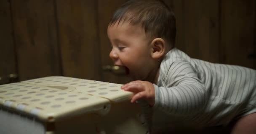
[[125, 75], [128, 72], [128, 70], [123, 66], [106, 65], [106, 66], [103, 66], [102, 69], [106, 72], [112, 72], [115, 75]]

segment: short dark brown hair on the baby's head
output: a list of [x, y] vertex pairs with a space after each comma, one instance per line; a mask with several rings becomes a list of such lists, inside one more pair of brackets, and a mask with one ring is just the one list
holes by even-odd
[[151, 38], [163, 38], [174, 46], [176, 23], [174, 13], [160, 0], [130, 0], [118, 8], [109, 26], [129, 22], [140, 24]]

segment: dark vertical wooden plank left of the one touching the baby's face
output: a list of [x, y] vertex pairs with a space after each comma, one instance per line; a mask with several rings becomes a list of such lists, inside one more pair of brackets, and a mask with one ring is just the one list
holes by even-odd
[[56, 7], [63, 75], [101, 80], [97, 2], [56, 0]]

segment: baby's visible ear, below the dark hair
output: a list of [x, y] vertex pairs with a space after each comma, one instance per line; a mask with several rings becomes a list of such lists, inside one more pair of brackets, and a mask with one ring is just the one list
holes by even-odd
[[151, 56], [154, 59], [158, 59], [160, 57], [163, 57], [164, 53], [165, 53], [165, 41], [162, 38], [155, 38], [152, 42], [151, 42], [151, 46], [152, 46], [152, 52], [151, 52]]

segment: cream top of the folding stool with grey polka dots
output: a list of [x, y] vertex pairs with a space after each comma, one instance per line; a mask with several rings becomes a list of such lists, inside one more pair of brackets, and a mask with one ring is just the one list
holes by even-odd
[[110, 103], [131, 98], [120, 84], [51, 76], [0, 85], [0, 104], [43, 120], [54, 120], [79, 109], [106, 114]]

